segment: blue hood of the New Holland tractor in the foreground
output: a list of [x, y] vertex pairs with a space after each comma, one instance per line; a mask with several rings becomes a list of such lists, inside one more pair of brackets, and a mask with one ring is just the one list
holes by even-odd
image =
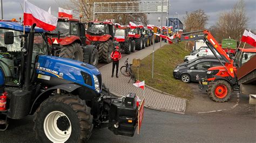
[[[93, 75], [95, 75], [98, 78], [98, 81], [101, 82], [101, 75], [96, 67], [93, 67], [84, 62], [59, 58], [57, 56], [39, 56], [38, 62], [36, 64], [36, 73], [46, 75], [43, 76], [46, 78], [43, 78], [44, 80], [50, 80], [50, 77], [58, 77], [62, 78], [63, 80], [84, 85], [91, 89], [94, 89], [95, 87]], [[88, 80], [91, 85], [88, 83], [86, 84], [85, 81]]]

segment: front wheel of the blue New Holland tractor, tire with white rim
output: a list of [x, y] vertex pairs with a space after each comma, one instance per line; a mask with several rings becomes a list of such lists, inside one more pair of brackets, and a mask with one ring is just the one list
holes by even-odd
[[46, 99], [35, 113], [37, 138], [42, 142], [85, 142], [93, 128], [91, 108], [73, 95]]

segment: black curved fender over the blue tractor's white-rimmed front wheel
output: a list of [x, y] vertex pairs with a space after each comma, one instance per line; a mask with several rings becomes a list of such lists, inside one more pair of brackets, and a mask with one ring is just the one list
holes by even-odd
[[80, 85], [77, 84], [73, 84], [73, 83], [67, 83], [67, 84], [60, 84], [57, 85], [55, 87], [51, 87], [49, 89], [46, 89], [44, 92], [42, 92], [39, 96], [37, 96], [37, 98], [35, 99], [35, 101], [33, 102], [31, 109], [30, 109], [30, 114], [33, 114], [36, 109], [39, 107], [39, 105], [45, 100], [47, 99], [51, 93], [53, 91], [55, 91], [56, 89], [61, 89], [61, 90], [65, 90], [67, 92], [72, 92], [78, 88], [80, 88]]

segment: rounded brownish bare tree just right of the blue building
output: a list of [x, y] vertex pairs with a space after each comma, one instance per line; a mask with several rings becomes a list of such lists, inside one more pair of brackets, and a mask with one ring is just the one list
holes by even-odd
[[204, 30], [207, 24], [208, 16], [204, 10], [195, 10], [191, 13], [186, 11], [186, 16], [184, 18], [185, 30], [187, 32]]

